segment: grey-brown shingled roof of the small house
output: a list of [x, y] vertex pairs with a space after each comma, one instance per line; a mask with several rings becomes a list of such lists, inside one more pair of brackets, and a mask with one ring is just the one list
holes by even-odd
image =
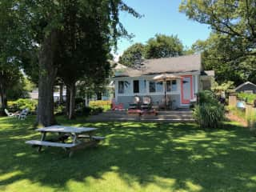
[[142, 62], [142, 68], [140, 70], [127, 67], [122, 73], [116, 74], [115, 77], [136, 77], [146, 74], [182, 73], [201, 70], [201, 55], [191, 54], [175, 58], [147, 59]]

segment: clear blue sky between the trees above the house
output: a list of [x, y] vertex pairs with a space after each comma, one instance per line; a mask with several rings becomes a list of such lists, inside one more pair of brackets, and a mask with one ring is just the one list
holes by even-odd
[[129, 33], [135, 35], [133, 41], [118, 41], [118, 54], [122, 54], [135, 42], [145, 43], [155, 34], [178, 35], [184, 46], [190, 47], [198, 39], [206, 39], [210, 28], [204, 24], [189, 20], [185, 14], [178, 12], [181, 0], [125, 0], [143, 18], [134, 18], [130, 14], [120, 14], [120, 20]]

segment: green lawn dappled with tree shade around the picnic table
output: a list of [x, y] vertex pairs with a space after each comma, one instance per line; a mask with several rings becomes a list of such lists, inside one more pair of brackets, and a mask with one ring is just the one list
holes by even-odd
[[0, 191], [256, 191], [256, 138], [226, 123], [223, 130], [194, 124], [58, 122], [101, 128], [106, 140], [72, 158], [59, 148], [36, 148], [34, 117], [0, 118]]

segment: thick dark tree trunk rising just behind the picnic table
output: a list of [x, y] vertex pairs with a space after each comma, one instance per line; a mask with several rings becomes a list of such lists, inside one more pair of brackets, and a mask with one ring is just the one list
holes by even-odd
[[54, 81], [57, 67], [54, 66], [54, 52], [57, 47], [57, 32], [51, 31], [44, 39], [39, 51], [39, 84], [37, 124], [51, 126], [54, 118]]

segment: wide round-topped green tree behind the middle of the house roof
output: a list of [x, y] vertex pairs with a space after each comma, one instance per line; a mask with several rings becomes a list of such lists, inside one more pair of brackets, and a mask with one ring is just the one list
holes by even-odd
[[170, 58], [182, 54], [182, 42], [177, 35], [156, 34], [146, 42], [145, 58]]

